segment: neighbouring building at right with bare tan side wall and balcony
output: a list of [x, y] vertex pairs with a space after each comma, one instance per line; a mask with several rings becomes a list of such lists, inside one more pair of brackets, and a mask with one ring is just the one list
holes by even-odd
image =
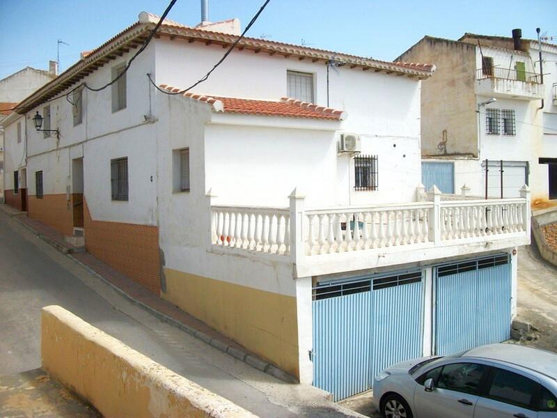
[[485, 196], [487, 160], [489, 197], [518, 196], [526, 183], [534, 206], [557, 199], [557, 45], [542, 43], [542, 82], [538, 42], [514, 34], [425, 36], [399, 56], [437, 65], [421, 95], [426, 186]]

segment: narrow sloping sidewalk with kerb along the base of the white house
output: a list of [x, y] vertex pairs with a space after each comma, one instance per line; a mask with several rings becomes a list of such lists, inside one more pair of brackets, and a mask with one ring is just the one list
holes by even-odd
[[275, 378], [284, 380], [285, 382], [297, 381], [294, 377], [288, 375], [288, 373], [278, 369], [274, 366], [274, 364], [266, 362], [258, 357], [258, 355], [251, 353], [249, 350], [232, 339], [224, 336], [220, 332], [217, 332], [178, 307], [175, 307], [175, 305], [166, 302], [166, 300], [162, 300], [157, 295], [154, 295], [146, 288], [143, 288], [135, 281], [125, 276], [125, 274], [114, 270], [107, 263], [104, 263], [95, 258], [93, 255], [87, 253], [81, 247], [74, 247], [69, 242], [66, 242], [64, 240], [64, 235], [56, 231], [54, 228], [42, 224], [42, 222], [39, 222], [36, 219], [27, 217], [26, 212], [19, 212], [8, 205], [0, 205], [0, 210], [15, 219], [20, 224], [26, 226], [26, 228], [33, 231], [38, 238], [45, 240], [45, 242], [49, 243], [49, 245], [52, 245], [63, 254], [70, 256], [70, 258], [73, 258], [74, 261], [77, 261], [77, 263], [84, 266], [84, 268], [88, 269], [93, 274], [96, 274], [100, 277], [100, 279], [106, 281], [120, 295], [126, 297], [139, 307], [146, 309], [150, 312], [150, 314], [157, 316], [160, 320], [180, 328], [180, 330], [195, 336], [197, 339], [201, 339], [201, 341], [210, 344], [214, 348], [217, 348], [260, 371], [269, 373]]

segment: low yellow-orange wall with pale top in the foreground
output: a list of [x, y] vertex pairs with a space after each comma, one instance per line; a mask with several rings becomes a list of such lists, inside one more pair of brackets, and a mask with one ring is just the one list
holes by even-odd
[[255, 417], [62, 307], [42, 309], [42, 368], [104, 417]]

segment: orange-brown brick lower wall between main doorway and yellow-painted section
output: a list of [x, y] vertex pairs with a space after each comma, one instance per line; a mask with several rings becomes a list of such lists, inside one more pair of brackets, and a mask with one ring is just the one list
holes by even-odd
[[160, 295], [157, 226], [95, 221], [84, 199], [84, 229], [87, 251]]

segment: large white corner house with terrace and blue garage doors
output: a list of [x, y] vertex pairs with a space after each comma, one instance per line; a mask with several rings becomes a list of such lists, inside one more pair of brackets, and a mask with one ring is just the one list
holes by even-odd
[[[121, 73], [157, 20], [141, 13], [4, 121], [29, 216], [336, 399], [402, 359], [508, 338], [528, 190], [425, 193], [434, 65], [244, 38], [168, 95], [240, 25], [166, 21], [110, 88], [76, 90]], [[58, 134], [33, 129], [37, 112]]]

